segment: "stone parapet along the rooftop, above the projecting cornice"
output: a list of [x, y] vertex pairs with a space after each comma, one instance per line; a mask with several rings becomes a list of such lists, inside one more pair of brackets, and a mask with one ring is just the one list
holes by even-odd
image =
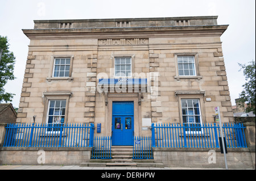
[[34, 20], [35, 29], [40, 28], [113, 28], [113, 27], [160, 27], [216, 25], [218, 16], [192, 16], [177, 18], [118, 18]]

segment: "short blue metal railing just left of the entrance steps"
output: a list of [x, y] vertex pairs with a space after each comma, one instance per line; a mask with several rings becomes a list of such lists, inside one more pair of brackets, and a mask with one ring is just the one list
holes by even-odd
[[112, 137], [94, 137], [92, 159], [111, 159]]

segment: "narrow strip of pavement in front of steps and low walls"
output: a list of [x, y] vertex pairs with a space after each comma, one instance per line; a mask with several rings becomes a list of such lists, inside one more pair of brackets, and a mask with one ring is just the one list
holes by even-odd
[[[81, 167], [77, 165], [1, 165], [0, 170], [226, 170], [224, 168], [188, 168], [188, 167]], [[241, 169], [230, 169], [241, 170]], [[242, 169], [253, 170], [253, 169]]]

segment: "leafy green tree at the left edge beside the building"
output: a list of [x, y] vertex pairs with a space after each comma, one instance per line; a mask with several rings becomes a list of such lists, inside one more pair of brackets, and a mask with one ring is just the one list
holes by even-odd
[[8, 80], [15, 79], [13, 71], [15, 64], [15, 57], [13, 52], [9, 51], [9, 43], [7, 37], [0, 36], [0, 103], [5, 101], [11, 102], [15, 94], [5, 92], [3, 87], [6, 85]]

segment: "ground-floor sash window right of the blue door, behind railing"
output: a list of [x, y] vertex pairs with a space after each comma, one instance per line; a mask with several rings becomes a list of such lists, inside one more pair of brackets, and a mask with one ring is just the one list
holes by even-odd
[[201, 125], [201, 110], [199, 99], [181, 99], [183, 124], [187, 126], [186, 131], [201, 131], [196, 128]]

